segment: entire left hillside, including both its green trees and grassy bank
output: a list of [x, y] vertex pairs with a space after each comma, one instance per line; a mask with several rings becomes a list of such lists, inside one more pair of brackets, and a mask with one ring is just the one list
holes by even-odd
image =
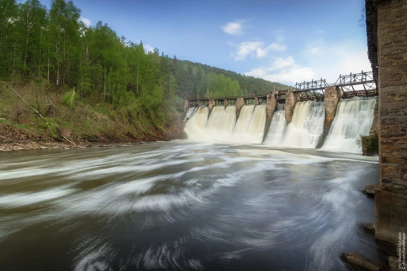
[[[0, 2], [0, 125], [78, 144], [179, 138], [185, 97], [287, 87], [146, 52], [107, 24], [79, 18], [72, 1], [49, 9], [38, 0]], [[4, 134], [3, 144], [17, 140]]]

